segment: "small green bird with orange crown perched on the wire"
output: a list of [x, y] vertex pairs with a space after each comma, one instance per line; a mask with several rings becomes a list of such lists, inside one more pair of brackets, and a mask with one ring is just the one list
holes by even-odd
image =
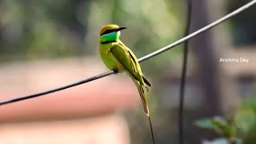
[[110, 70], [114, 70], [117, 73], [128, 72], [130, 78], [138, 88], [144, 111], [149, 117], [150, 110], [143, 87], [148, 91], [146, 85], [151, 85], [142, 74], [141, 66], [138, 64], [138, 58], [119, 40], [121, 35], [120, 30], [124, 29], [126, 27], [119, 27], [117, 25], [103, 26], [100, 32], [99, 52], [103, 62]]

